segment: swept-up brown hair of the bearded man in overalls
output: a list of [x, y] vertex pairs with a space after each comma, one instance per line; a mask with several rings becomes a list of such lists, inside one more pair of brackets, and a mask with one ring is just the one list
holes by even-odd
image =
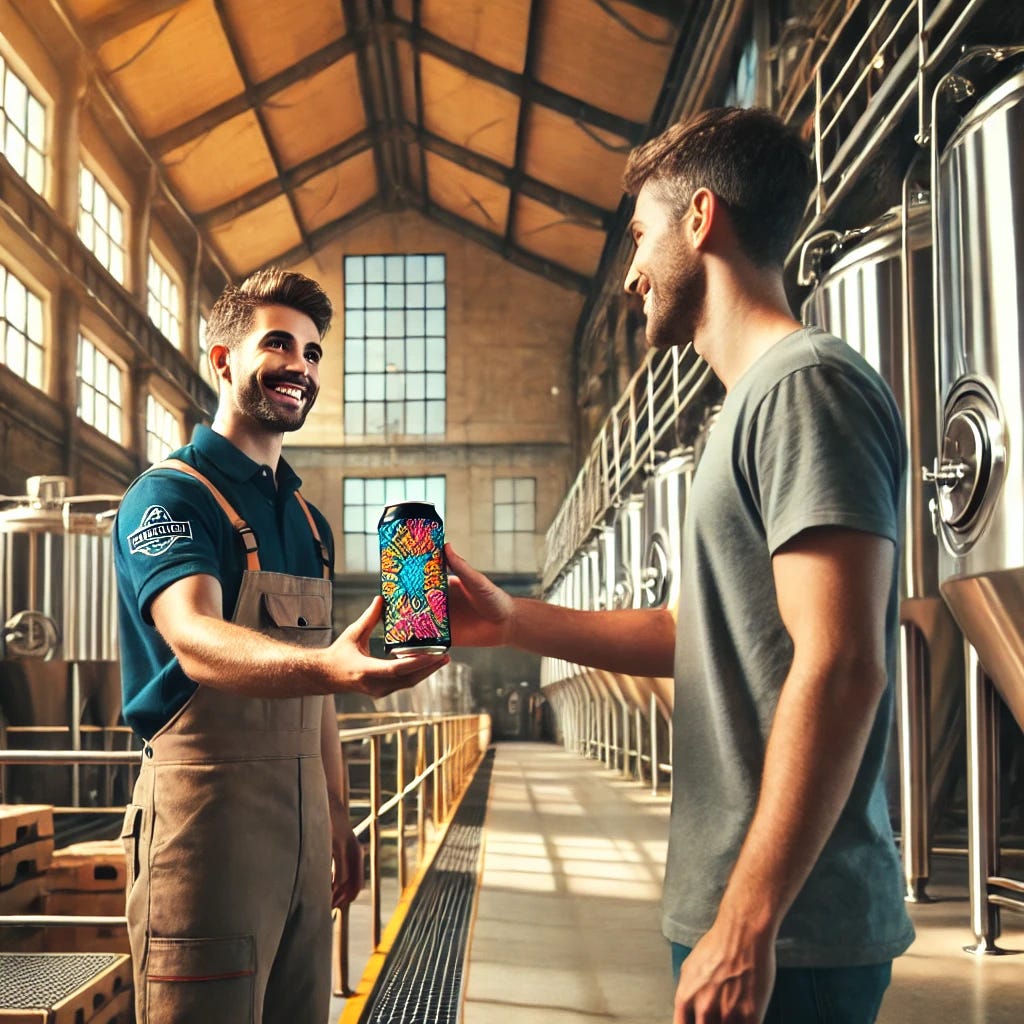
[[334, 309], [324, 289], [311, 278], [294, 270], [267, 267], [250, 274], [241, 285], [228, 285], [210, 310], [207, 346], [233, 348], [252, 330], [260, 306], [289, 306], [305, 313], [323, 339]]

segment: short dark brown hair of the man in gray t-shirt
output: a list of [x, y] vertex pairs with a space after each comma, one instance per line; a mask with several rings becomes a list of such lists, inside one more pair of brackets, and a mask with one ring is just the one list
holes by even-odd
[[813, 184], [800, 136], [770, 111], [721, 106], [680, 122], [634, 150], [623, 187], [645, 183], [676, 217], [698, 188], [723, 202], [748, 258], [782, 265]]

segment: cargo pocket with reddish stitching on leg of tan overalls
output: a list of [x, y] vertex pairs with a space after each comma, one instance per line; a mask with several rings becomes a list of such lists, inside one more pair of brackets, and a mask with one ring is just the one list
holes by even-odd
[[253, 938], [150, 938], [146, 1016], [161, 1024], [251, 1024], [256, 976]]

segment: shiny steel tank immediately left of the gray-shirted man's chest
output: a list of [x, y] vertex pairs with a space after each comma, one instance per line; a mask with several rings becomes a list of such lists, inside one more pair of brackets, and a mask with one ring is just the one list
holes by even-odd
[[693, 477], [693, 449], [678, 449], [654, 467], [644, 484], [640, 606], [679, 602], [683, 516]]

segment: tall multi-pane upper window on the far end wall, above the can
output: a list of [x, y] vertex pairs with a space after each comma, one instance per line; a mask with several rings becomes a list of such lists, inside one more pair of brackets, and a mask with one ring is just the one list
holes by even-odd
[[345, 433], [444, 433], [444, 257], [345, 257]]

